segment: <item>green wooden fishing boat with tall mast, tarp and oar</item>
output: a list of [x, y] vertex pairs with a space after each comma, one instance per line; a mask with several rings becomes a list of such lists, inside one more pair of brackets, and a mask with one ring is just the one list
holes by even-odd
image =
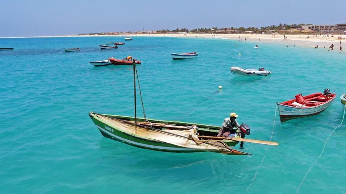
[[237, 145], [239, 141], [278, 145], [275, 142], [244, 139], [245, 133], [243, 132], [237, 133], [238, 137], [216, 137], [220, 127], [213, 125], [147, 119], [141, 92], [144, 118], [138, 118], [136, 108], [136, 75], [139, 91], [140, 85], [135, 62], [134, 59], [135, 117], [89, 113], [90, 118], [104, 137], [131, 146], [163, 152], [216, 152], [229, 155], [247, 155], [249, 153], [238, 151], [231, 148], [231, 146]]

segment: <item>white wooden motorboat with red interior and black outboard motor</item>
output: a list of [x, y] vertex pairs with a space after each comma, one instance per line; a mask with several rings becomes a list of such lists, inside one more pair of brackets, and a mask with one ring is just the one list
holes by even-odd
[[333, 103], [336, 94], [331, 94], [329, 89], [325, 89], [324, 94], [315, 93], [308, 96], [298, 94], [295, 99], [277, 103], [280, 120], [286, 120], [317, 115], [326, 110]]

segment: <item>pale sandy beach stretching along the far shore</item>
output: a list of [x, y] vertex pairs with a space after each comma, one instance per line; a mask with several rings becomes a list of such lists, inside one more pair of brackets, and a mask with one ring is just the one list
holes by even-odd
[[[260, 45], [260, 42], [276, 42], [283, 43], [286, 45], [299, 45], [299, 46], [307, 46], [314, 47], [318, 45], [318, 47], [327, 47], [331, 44], [334, 44], [334, 50], [339, 50], [339, 42], [341, 40], [341, 46], [343, 46], [343, 50], [346, 52], [346, 35], [333, 35], [334, 37], [325, 37], [322, 36], [313, 36], [313, 35], [285, 35], [288, 36], [287, 39], [284, 39], [284, 35], [262, 35], [262, 34], [216, 34], [216, 37], [213, 37], [212, 34], [190, 34], [187, 33], [186, 36], [182, 33], [167, 33], [167, 34], [122, 34], [122, 35], [65, 35], [65, 36], [30, 36], [30, 37], [0, 37], [0, 38], [56, 38], [56, 37], [181, 37], [181, 38], [225, 38], [225, 39], [233, 39], [233, 40], [243, 40], [245, 38], [247, 41], [256, 42], [256, 44]], [[342, 36], [342, 39], [337, 39], [339, 36]], [[240, 39], [239, 39], [240, 37]], [[307, 38], [309, 37], [309, 38]]]

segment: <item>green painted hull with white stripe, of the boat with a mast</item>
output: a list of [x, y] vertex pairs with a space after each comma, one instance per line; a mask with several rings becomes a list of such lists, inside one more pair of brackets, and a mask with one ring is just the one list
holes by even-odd
[[[116, 140], [118, 142], [122, 142], [131, 146], [144, 148], [144, 149], [151, 149], [155, 151], [162, 151], [162, 152], [175, 152], [175, 153], [191, 153], [191, 152], [206, 152], [201, 149], [191, 149], [186, 147], [180, 147], [173, 144], [161, 142], [154, 139], [148, 139], [148, 138], [142, 138], [140, 136], [137, 136], [135, 134], [128, 134], [123, 132], [120, 128], [117, 128], [115, 126], [112, 126], [108, 124], [107, 122], [103, 122], [102, 119], [95, 116], [92, 112], [89, 113], [90, 118], [100, 131], [100, 133], [107, 138]], [[129, 120], [134, 120], [133, 117], [123, 117], [123, 116], [116, 116], [116, 115], [109, 115], [109, 116], [115, 116], [115, 117], [122, 117]], [[143, 122], [144, 119], [138, 118], [138, 122]], [[163, 122], [162, 120], [152, 120], [149, 119], [150, 122]], [[187, 123], [186, 123], [187, 124]], [[227, 140], [225, 143], [228, 146], [235, 146], [238, 142]]]

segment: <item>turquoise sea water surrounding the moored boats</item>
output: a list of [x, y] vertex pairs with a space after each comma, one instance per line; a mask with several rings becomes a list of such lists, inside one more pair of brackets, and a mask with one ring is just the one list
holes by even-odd
[[[273, 141], [280, 145], [268, 148], [248, 193], [295, 193], [341, 122], [346, 56], [336, 50], [270, 43], [253, 49], [252, 41], [168, 37], [134, 37], [118, 50], [98, 50], [110, 41], [123, 37], [0, 39], [1, 47], [15, 48], [0, 51], [0, 193], [246, 191], [266, 145], [245, 143], [253, 156], [179, 154], [104, 138], [90, 111], [134, 115], [132, 67], [88, 63], [111, 56], [142, 61], [137, 68], [148, 118], [221, 125], [236, 112], [252, 139], [270, 139], [275, 102], [335, 90], [337, 99], [320, 115], [285, 123], [277, 116]], [[81, 51], [67, 53], [66, 47]], [[170, 56], [190, 51], [199, 56]], [[272, 75], [230, 76], [231, 66], [265, 67]], [[222, 92], [215, 93], [219, 85]], [[346, 193], [345, 130], [345, 123], [336, 129], [299, 193]]]

